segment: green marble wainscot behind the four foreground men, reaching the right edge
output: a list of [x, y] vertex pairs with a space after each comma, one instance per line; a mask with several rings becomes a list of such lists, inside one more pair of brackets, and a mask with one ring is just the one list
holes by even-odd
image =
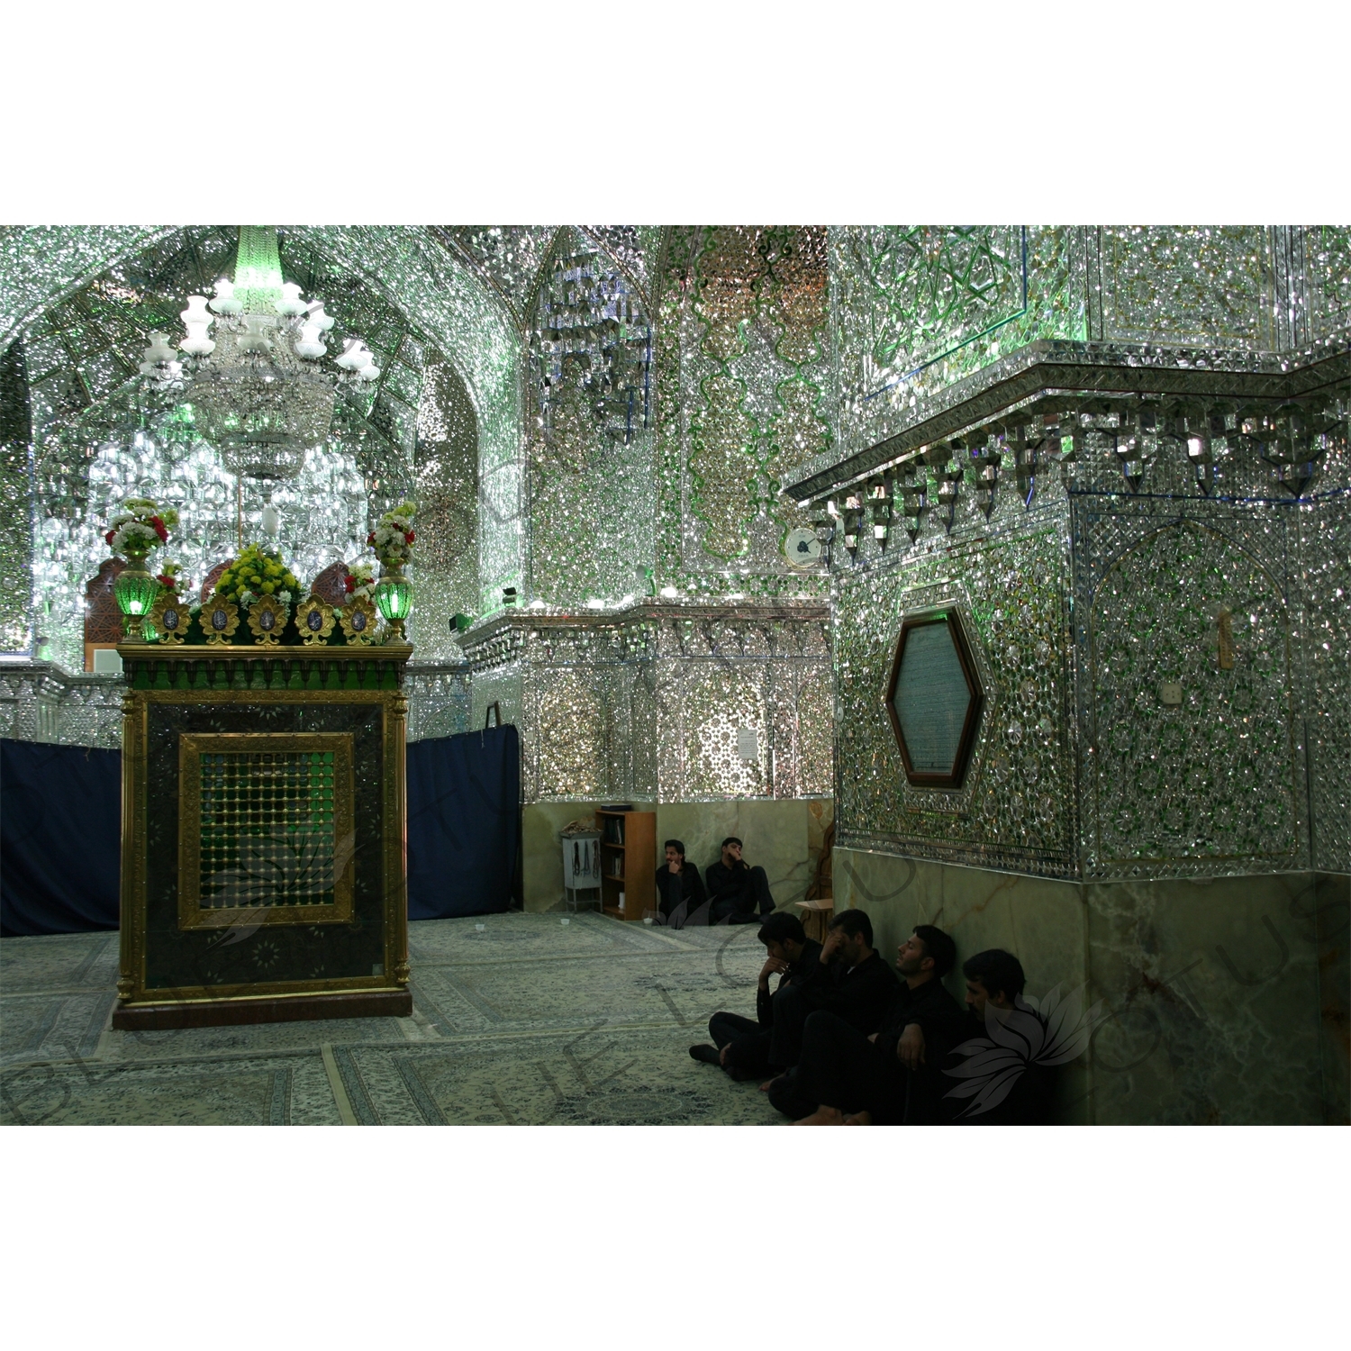
[[[1086, 985], [1104, 1020], [1067, 1066], [1061, 1119], [1321, 1124], [1346, 1116], [1347, 880], [1077, 884], [893, 854], [835, 854], [836, 909], [889, 958], [919, 923], [1015, 952], [1029, 994]], [[959, 971], [947, 981], [961, 997]]]

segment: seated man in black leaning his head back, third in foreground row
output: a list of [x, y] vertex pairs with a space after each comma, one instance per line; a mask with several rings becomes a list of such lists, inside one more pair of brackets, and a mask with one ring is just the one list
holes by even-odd
[[942, 984], [955, 961], [947, 934], [917, 925], [897, 951], [901, 984], [880, 1029], [866, 1035], [838, 1013], [812, 1013], [794, 1079], [770, 1101], [801, 1117], [800, 1125], [946, 1121], [951, 1109], [942, 1101], [947, 1084], [939, 1067], [970, 1029]]

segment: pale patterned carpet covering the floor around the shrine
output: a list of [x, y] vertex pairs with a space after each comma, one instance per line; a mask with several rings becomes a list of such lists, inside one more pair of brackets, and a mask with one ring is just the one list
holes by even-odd
[[115, 1032], [116, 934], [4, 939], [0, 1123], [778, 1123], [688, 1054], [717, 1009], [754, 1017], [763, 955], [754, 925], [431, 920], [412, 1017]]

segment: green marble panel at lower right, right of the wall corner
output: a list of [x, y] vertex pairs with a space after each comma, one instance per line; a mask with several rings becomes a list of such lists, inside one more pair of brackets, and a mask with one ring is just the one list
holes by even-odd
[[1308, 873], [1085, 886], [1094, 1120], [1324, 1120]]

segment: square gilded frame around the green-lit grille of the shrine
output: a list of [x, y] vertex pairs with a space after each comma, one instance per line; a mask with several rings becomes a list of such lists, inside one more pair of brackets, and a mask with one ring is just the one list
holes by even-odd
[[[331, 905], [203, 907], [201, 755], [247, 751], [334, 753], [334, 846], [342, 870], [334, 878]], [[228, 928], [232, 924], [349, 924], [355, 882], [357, 785], [351, 732], [182, 732], [178, 736], [178, 928]]]

